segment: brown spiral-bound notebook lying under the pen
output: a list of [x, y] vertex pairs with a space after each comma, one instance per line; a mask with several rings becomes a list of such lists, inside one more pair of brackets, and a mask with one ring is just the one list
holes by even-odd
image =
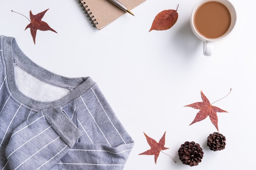
[[[128, 9], [133, 9], [144, 1], [146, 0], [119, 0]], [[79, 3], [81, 3], [81, 7], [83, 7], [92, 25], [97, 29], [102, 29], [126, 13], [108, 0], [79, 0]]]

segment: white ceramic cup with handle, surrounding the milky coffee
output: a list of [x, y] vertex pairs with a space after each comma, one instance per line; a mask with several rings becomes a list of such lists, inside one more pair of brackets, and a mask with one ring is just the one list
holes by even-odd
[[[224, 4], [227, 7], [227, 9], [229, 9], [229, 13], [231, 15], [231, 23], [230, 23], [229, 29], [227, 30], [227, 32], [224, 35], [222, 35], [218, 38], [206, 38], [205, 36], [200, 34], [195, 27], [194, 17], [195, 17], [195, 13], [196, 13], [197, 9], [202, 4], [204, 4], [206, 2], [210, 2], [210, 1], [216, 1], [216, 2], [220, 2], [220, 3]], [[218, 11], [216, 11], [216, 12], [218, 12]], [[203, 41], [203, 47], [204, 47], [203, 52], [204, 52], [204, 55], [206, 55], [206, 56], [211, 56], [211, 54], [213, 53], [213, 42], [222, 40], [223, 38], [227, 37], [227, 35], [229, 35], [229, 33], [234, 28], [235, 24], [236, 24], [236, 11], [235, 11], [234, 6], [228, 0], [200, 0], [193, 8], [193, 11], [191, 14], [191, 19], [190, 19], [190, 25], [191, 25], [191, 29], [192, 29], [193, 33], [200, 40]]]

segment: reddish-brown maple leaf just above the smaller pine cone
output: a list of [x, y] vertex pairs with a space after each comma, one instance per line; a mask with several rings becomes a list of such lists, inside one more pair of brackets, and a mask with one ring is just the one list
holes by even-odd
[[[230, 89], [230, 91], [231, 91], [231, 89]], [[196, 114], [195, 119], [192, 121], [191, 124], [201, 121], [201, 120], [207, 118], [207, 116], [209, 116], [211, 122], [216, 127], [216, 129], [219, 131], [217, 112], [226, 112], [227, 113], [227, 111], [222, 110], [216, 106], [212, 106], [212, 104], [209, 102], [209, 100], [207, 99], [207, 97], [204, 95], [204, 93], [202, 91], [201, 91], [201, 97], [202, 97], [203, 102], [195, 102], [193, 104], [186, 105], [186, 106], [189, 106], [189, 107], [192, 107], [195, 109], [200, 109], [200, 111]]]

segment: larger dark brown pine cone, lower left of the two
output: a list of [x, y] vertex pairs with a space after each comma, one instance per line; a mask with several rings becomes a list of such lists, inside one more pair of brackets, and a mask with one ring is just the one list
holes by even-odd
[[178, 154], [182, 163], [197, 166], [202, 161], [204, 152], [199, 144], [195, 144], [194, 141], [186, 141], [180, 146]]

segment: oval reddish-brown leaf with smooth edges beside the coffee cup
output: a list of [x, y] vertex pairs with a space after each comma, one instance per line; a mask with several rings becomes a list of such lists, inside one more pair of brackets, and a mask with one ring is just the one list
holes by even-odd
[[[179, 5], [178, 5], [179, 7]], [[177, 9], [178, 9], [177, 7]], [[152, 26], [149, 31], [154, 30], [166, 30], [170, 29], [178, 20], [177, 9], [169, 9], [159, 12], [153, 20]]]

